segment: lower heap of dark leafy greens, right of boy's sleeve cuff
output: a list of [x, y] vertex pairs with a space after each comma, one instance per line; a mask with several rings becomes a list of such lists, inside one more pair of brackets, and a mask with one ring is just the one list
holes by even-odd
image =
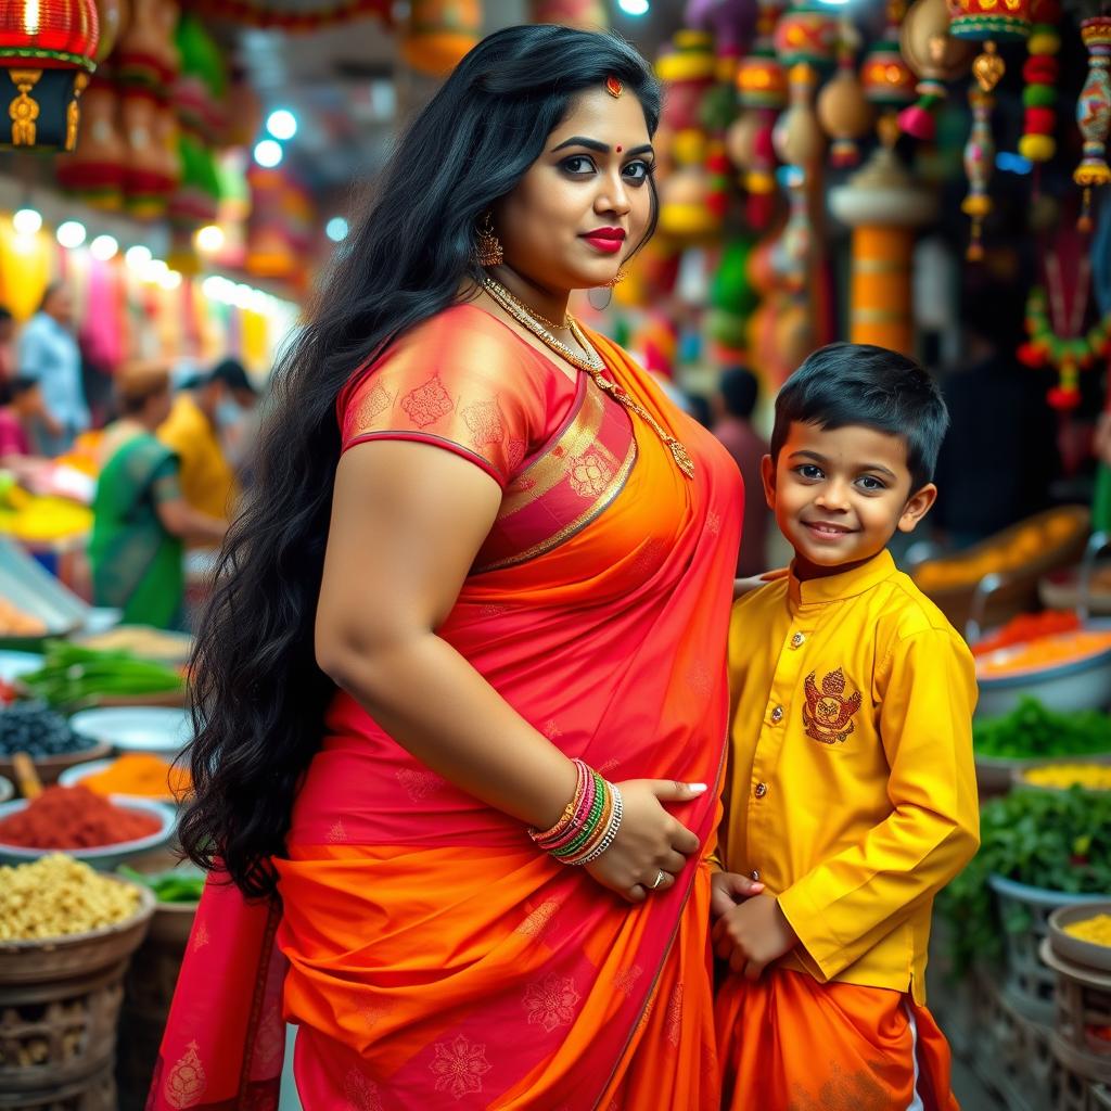
[[938, 898], [958, 973], [998, 957], [1002, 931], [1029, 929], [1018, 910], [1000, 921], [988, 877], [1068, 894], [1111, 891], [1111, 792], [1017, 790], [984, 804], [980, 851]]

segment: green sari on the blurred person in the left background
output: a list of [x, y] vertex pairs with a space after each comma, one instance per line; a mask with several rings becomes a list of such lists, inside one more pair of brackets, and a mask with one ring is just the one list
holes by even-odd
[[177, 496], [177, 457], [149, 433], [123, 443], [100, 472], [89, 541], [92, 597], [97, 605], [123, 610], [124, 624], [180, 623], [182, 546], [156, 508]]

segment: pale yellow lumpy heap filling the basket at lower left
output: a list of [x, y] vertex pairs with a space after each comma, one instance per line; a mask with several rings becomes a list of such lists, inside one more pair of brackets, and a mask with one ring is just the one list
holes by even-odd
[[0, 941], [60, 938], [114, 925], [139, 909], [139, 892], [69, 857], [0, 868]]

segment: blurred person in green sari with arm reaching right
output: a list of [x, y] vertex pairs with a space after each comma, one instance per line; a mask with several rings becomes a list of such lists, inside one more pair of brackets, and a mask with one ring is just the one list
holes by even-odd
[[178, 457], [154, 436], [170, 411], [170, 374], [136, 362], [116, 376], [120, 419], [104, 431], [92, 503], [92, 597], [123, 611], [126, 624], [179, 627], [182, 543], [223, 539], [223, 521], [189, 508]]

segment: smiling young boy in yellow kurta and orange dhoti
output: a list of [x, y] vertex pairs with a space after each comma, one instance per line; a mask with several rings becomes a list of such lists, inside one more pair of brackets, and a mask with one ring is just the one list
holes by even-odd
[[950, 1111], [925, 1009], [933, 897], [979, 843], [972, 657], [887, 551], [937, 497], [948, 414], [882, 348], [835, 344], [775, 402], [763, 484], [794, 548], [730, 629], [713, 878], [732, 1111]]

